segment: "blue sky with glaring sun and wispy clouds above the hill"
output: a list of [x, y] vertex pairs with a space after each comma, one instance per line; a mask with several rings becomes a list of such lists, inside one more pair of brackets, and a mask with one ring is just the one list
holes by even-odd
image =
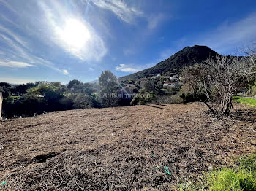
[[256, 39], [256, 1], [0, 0], [0, 81], [121, 77], [186, 46], [236, 54]]

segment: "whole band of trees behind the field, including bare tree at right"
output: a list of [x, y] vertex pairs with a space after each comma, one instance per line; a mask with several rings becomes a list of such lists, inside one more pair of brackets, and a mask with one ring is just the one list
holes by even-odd
[[[230, 114], [232, 98], [239, 92], [256, 95], [256, 53], [247, 56], [208, 58], [203, 63], [184, 68], [180, 88], [162, 89], [164, 79], [118, 82], [111, 71], [103, 71], [98, 83], [74, 79], [67, 85], [60, 82], [34, 82], [10, 85], [0, 82], [3, 92], [4, 117], [27, 117], [45, 112], [129, 106], [148, 103], [186, 103], [202, 101], [213, 114]], [[145, 80], [145, 79], [144, 79]], [[130, 96], [135, 95], [135, 96]]]

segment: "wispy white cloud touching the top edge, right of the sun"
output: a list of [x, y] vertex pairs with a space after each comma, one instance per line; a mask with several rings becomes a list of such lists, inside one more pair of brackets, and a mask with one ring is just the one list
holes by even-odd
[[143, 14], [135, 7], [129, 7], [125, 1], [122, 0], [92, 0], [95, 5], [102, 9], [108, 9], [118, 16], [121, 20], [131, 24], [135, 17]]

